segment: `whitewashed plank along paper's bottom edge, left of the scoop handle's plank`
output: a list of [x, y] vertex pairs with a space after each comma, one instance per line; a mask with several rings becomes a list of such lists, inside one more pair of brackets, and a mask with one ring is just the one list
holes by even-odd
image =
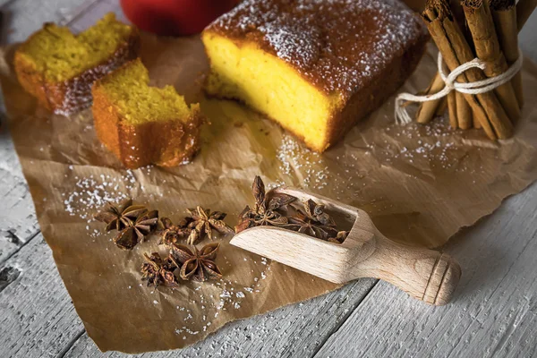
[[[183, 350], [140, 354], [161, 357], [293, 357], [311, 356], [328, 334], [345, 321], [377, 280], [362, 279], [340, 290], [293, 304], [277, 311], [241, 320]], [[97, 346], [84, 334], [65, 357], [100, 357]], [[110, 357], [127, 354], [111, 353]]]

